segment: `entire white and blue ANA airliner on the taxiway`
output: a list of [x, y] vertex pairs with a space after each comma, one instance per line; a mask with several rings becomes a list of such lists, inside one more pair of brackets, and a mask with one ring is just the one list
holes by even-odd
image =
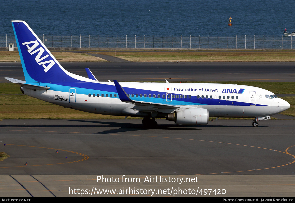
[[66, 71], [24, 21], [12, 21], [26, 81], [6, 78], [25, 95], [60, 106], [115, 116], [143, 117], [147, 128], [156, 118], [181, 125], [206, 125], [210, 117], [260, 120], [290, 108], [273, 92], [229, 84], [99, 82]]

